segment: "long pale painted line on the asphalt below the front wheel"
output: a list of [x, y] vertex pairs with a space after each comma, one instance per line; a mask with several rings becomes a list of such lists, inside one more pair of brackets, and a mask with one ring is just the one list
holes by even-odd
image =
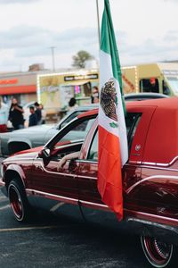
[[6, 231], [20, 231], [20, 230], [44, 230], [44, 229], [61, 229], [61, 228], [69, 228], [77, 226], [77, 224], [70, 225], [49, 225], [49, 226], [29, 226], [29, 227], [21, 227], [21, 228], [4, 228], [0, 229], [0, 232]]

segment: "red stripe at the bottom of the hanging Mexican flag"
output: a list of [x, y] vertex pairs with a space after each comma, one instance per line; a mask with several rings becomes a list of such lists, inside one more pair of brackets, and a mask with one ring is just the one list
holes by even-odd
[[98, 190], [102, 202], [123, 218], [123, 193], [120, 145], [117, 136], [99, 125]]

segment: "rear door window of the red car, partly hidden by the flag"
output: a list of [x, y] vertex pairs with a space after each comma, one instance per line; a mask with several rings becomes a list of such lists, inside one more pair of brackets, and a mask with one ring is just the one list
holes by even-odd
[[[142, 116], [142, 113], [127, 113], [126, 114], [125, 124], [126, 124], [127, 138], [128, 138], [129, 153], [132, 147], [134, 133], [137, 129], [141, 116]], [[98, 161], [98, 130], [96, 130], [94, 134], [93, 141], [89, 149], [87, 159], [91, 161]]]

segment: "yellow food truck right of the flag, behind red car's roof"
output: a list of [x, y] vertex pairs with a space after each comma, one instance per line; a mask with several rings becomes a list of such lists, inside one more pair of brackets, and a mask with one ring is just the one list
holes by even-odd
[[178, 63], [147, 63], [122, 68], [124, 93], [178, 96]]

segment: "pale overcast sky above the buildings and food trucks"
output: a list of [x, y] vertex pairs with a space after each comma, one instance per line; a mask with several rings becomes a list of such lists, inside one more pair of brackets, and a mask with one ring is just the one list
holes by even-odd
[[[178, 0], [109, 2], [122, 65], [178, 60]], [[56, 68], [79, 50], [98, 59], [96, 0], [0, 0], [0, 71], [52, 69], [50, 46]]]

